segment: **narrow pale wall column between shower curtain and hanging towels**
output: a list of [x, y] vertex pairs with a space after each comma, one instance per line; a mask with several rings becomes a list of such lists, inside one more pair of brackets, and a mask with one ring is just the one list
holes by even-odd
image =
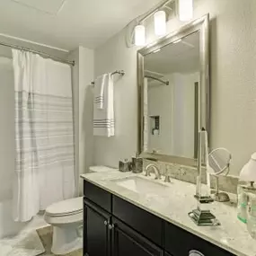
[[75, 184], [76, 192], [82, 194], [83, 184], [79, 174], [93, 165], [93, 87], [90, 84], [94, 77], [94, 52], [92, 49], [79, 47], [70, 53], [69, 59], [75, 60]]

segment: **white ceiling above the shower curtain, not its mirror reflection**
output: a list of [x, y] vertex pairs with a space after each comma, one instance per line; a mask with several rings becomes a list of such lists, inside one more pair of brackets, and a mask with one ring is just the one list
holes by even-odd
[[0, 33], [95, 49], [160, 0], [0, 0]]

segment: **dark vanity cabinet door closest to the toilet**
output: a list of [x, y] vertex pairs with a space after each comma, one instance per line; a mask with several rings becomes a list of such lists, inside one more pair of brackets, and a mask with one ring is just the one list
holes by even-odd
[[84, 202], [84, 256], [110, 256], [110, 215]]

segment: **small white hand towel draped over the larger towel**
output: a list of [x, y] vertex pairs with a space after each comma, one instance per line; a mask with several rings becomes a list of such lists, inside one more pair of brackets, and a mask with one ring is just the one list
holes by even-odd
[[103, 109], [104, 104], [104, 87], [108, 83], [108, 74], [98, 76], [94, 84], [94, 102], [99, 110]]

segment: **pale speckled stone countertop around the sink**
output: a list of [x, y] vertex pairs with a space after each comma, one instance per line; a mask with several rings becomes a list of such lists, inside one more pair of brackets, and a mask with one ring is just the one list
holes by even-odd
[[[82, 174], [81, 178], [228, 252], [238, 256], [256, 256], [256, 241], [248, 233], [246, 225], [237, 219], [237, 210], [234, 204], [214, 202], [208, 205], [221, 225], [198, 226], [188, 216], [188, 213], [197, 207], [197, 201], [193, 197], [196, 190], [194, 184], [174, 179], [167, 184], [163, 181], [154, 181], [154, 175], [145, 177], [144, 174], [119, 172], [117, 169], [108, 167], [100, 169], [101, 172]], [[115, 183], [116, 180], [136, 176], [163, 183], [164, 194], [139, 194]]]

